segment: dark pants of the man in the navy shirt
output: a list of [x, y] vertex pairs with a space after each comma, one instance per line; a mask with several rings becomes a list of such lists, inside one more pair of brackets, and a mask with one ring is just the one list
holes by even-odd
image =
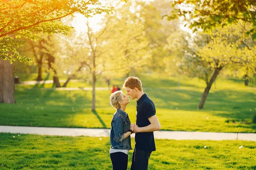
[[148, 169], [148, 159], [151, 152], [146, 150], [138, 150], [134, 148], [131, 161], [131, 170], [147, 170]]

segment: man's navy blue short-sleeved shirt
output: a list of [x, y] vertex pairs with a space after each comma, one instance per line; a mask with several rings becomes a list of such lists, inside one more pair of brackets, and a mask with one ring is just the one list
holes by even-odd
[[[137, 100], [136, 125], [145, 127], [150, 125], [148, 118], [156, 114], [156, 108], [147, 94]], [[135, 148], [152, 152], [156, 150], [154, 132], [135, 133]]]

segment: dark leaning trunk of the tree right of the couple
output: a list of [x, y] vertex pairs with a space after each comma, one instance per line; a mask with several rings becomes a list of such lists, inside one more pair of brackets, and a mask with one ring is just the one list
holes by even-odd
[[205, 101], [207, 99], [207, 96], [209, 94], [209, 91], [210, 91], [210, 89], [212, 87], [212, 83], [215, 81], [216, 77], [218, 76], [218, 74], [219, 74], [219, 72], [221, 71], [222, 68], [223, 67], [220, 66], [220, 67], [215, 69], [215, 71], [214, 71], [214, 73], [212, 75], [212, 78], [210, 79], [209, 83], [207, 84], [207, 87], [204, 89], [204, 93], [203, 93], [201, 101], [200, 101], [200, 103], [198, 105], [199, 109], [202, 109], [204, 107], [204, 103], [205, 103]]

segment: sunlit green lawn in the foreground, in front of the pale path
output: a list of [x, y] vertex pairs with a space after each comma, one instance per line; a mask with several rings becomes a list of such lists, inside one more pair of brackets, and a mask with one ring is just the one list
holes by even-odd
[[[111, 170], [109, 138], [101, 139], [0, 133], [0, 169]], [[256, 142], [156, 140], [156, 147], [148, 170], [256, 170]]]

